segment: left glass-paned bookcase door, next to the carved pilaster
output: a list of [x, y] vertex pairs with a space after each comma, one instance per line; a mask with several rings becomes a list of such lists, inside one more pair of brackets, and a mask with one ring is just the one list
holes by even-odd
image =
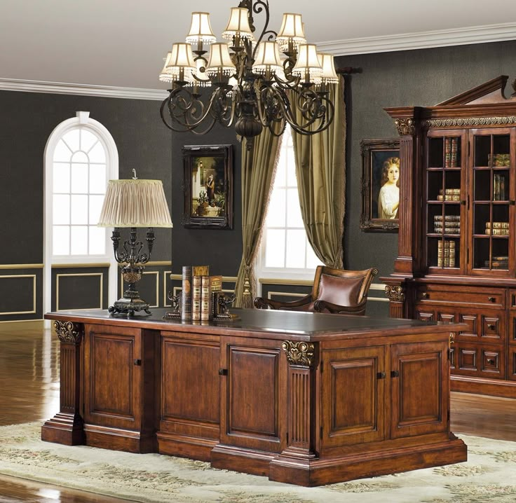
[[[438, 273], [463, 269], [466, 132], [429, 131], [426, 138], [426, 266]], [[438, 271], [437, 271], [438, 270]]]

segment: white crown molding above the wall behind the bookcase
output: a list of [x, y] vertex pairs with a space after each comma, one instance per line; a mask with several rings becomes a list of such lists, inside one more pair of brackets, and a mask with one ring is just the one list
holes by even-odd
[[320, 42], [318, 50], [336, 56], [387, 53], [393, 50], [462, 46], [470, 43], [500, 42], [516, 39], [516, 23], [440, 29], [433, 32], [370, 36], [359, 39]]

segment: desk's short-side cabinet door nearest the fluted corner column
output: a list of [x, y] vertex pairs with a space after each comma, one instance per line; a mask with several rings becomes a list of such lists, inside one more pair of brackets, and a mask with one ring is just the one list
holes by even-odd
[[385, 346], [322, 353], [324, 447], [384, 439], [385, 355]]

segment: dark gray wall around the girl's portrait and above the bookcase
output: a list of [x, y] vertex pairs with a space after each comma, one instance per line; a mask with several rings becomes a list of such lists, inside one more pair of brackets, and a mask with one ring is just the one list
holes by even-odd
[[346, 77], [346, 268], [376, 266], [379, 276], [388, 275], [398, 256], [398, 234], [365, 233], [359, 226], [360, 140], [398, 137], [383, 108], [434, 105], [499, 75], [510, 76], [511, 82], [515, 50], [516, 41], [508, 41], [337, 58], [337, 67], [362, 69]]

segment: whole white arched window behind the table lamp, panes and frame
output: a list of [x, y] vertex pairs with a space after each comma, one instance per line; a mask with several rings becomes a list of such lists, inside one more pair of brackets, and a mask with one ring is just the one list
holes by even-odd
[[111, 263], [109, 291], [116, 296], [116, 267], [107, 230], [97, 227], [107, 181], [118, 178], [118, 151], [109, 131], [90, 113], [57, 125], [45, 148], [44, 309], [50, 310], [52, 264]]

